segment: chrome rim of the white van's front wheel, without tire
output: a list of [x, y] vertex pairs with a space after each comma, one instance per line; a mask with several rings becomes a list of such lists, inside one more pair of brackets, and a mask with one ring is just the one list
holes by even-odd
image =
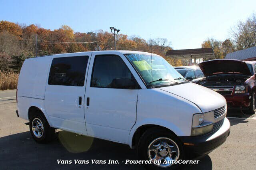
[[148, 146], [148, 158], [152, 160], [152, 163], [157, 160], [160, 164], [155, 165], [162, 168], [172, 166], [179, 156], [178, 144], [170, 138], [156, 138]]

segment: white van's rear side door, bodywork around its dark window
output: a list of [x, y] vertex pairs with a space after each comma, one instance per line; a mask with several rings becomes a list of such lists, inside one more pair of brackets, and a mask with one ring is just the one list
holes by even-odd
[[[49, 85], [47, 79], [44, 105], [53, 127], [87, 134], [84, 119], [84, 94], [91, 55], [92, 52], [83, 52], [59, 54], [52, 57], [52, 60], [60, 57], [88, 57], [87, 66], [84, 66], [86, 67], [84, 86]], [[79, 105], [79, 97], [82, 98], [81, 105]]]

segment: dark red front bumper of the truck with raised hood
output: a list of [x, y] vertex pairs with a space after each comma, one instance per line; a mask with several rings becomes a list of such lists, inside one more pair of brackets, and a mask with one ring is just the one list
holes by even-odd
[[249, 107], [251, 103], [250, 96], [250, 93], [241, 93], [223, 97], [225, 97], [228, 107]]

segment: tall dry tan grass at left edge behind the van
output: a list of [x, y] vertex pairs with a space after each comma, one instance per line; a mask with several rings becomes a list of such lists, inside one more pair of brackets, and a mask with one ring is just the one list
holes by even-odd
[[16, 89], [19, 73], [0, 71], [0, 90]]

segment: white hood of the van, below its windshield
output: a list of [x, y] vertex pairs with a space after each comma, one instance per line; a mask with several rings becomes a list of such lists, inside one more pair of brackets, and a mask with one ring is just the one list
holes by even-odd
[[202, 113], [213, 111], [226, 105], [226, 99], [222, 95], [195, 83], [184, 83], [159, 89], [191, 101], [201, 109]]

